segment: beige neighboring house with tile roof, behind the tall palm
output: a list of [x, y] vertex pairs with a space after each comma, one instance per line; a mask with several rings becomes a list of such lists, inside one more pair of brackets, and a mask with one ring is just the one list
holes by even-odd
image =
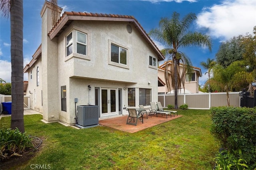
[[[164, 62], [164, 64], [160, 65], [158, 67], [158, 94], [174, 94], [174, 89], [172, 88], [171, 85], [171, 91], [168, 91], [166, 84], [165, 84], [165, 78], [164, 78], [164, 67], [165, 65], [167, 65], [167, 70], [168, 72], [170, 72], [171, 70], [171, 66], [172, 63], [171, 61], [169, 62]], [[180, 68], [180, 72], [182, 72], [182, 67], [183, 64], [179, 65]], [[181, 89], [178, 90], [178, 93], [183, 94], [185, 93], [198, 93], [198, 83], [199, 83], [199, 77], [202, 77], [202, 72], [201, 72], [201, 68], [198, 67], [192, 67], [194, 72], [192, 72], [191, 77], [188, 76], [188, 74], [186, 74], [186, 79], [185, 79], [185, 83], [184, 83], [184, 87], [185, 87], [185, 91], [184, 91], [184, 87], [182, 86]], [[172, 81], [171, 79], [171, 75], [169, 75], [169, 80]], [[190, 79], [191, 78], [191, 79]], [[172, 82], [170, 82], [170, 84], [172, 84]]]

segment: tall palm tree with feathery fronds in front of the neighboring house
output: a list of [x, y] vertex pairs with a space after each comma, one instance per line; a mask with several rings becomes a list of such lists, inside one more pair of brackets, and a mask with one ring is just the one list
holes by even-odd
[[[179, 20], [180, 14], [174, 12], [172, 14], [172, 18], [161, 18], [159, 22], [159, 28], [152, 29], [149, 32], [149, 35], [154, 37], [160, 43], [164, 44], [166, 49], [163, 50], [164, 55], [169, 55], [167, 58], [168, 60], [172, 60], [172, 70], [171, 70], [171, 79], [172, 79], [172, 88], [174, 88], [174, 96], [175, 96], [175, 109], [178, 109], [178, 87], [181, 86], [181, 83], [184, 80], [185, 73], [190, 72], [190, 68], [184, 70], [180, 76], [178, 65], [180, 63], [184, 64], [184, 68], [191, 64], [189, 58], [178, 51], [179, 47], [208, 47], [210, 51], [212, 51], [212, 40], [209, 35], [205, 35], [199, 33], [197, 31], [191, 32], [189, 31], [190, 24], [195, 21], [196, 14], [189, 13], [182, 20]], [[168, 74], [168, 70], [165, 69], [166, 75]], [[170, 90], [170, 83], [165, 76], [165, 81], [168, 90]]]

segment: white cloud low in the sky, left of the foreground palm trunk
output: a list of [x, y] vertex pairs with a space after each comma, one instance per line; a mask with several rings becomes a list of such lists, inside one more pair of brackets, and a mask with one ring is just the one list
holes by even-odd
[[6, 60], [0, 60], [0, 78], [6, 82], [11, 82], [11, 62]]

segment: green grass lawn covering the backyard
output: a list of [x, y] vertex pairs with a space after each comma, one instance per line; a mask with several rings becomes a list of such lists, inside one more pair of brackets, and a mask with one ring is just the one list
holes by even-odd
[[[19, 168], [50, 164], [53, 170], [211, 170], [218, 143], [210, 134], [210, 111], [178, 113], [183, 117], [137, 133], [104, 126], [78, 130], [45, 124], [42, 115], [25, 115], [27, 134], [44, 140], [42, 150]], [[9, 128], [10, 117], [2, 117], [0, 127]]]

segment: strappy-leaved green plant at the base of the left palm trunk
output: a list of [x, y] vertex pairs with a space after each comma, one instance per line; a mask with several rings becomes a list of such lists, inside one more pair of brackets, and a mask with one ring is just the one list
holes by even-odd
[[0, 129], [0, 159], [22, 156], [21, 153], [33, 148], [32, 138], [18, 129]]

